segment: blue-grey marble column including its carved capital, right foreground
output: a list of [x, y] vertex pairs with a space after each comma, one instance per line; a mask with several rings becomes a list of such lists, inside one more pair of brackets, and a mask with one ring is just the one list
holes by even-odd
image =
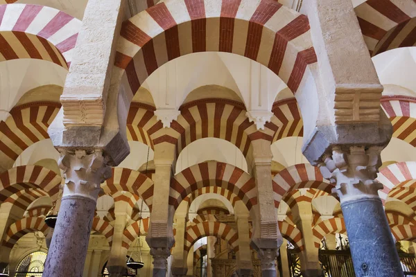
[[336, 183], [357, 277], [401, 277], [399, 255], [375, 181], [380, 147], [334, 146], [321, 163], [322, 175]]

